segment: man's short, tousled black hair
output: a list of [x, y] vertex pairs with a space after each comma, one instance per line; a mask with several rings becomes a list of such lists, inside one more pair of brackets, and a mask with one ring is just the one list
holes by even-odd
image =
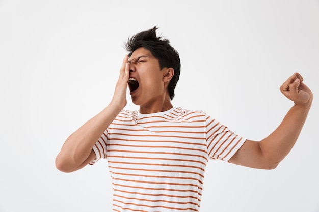
[[174, 69], [174, 76], [168, 84], [168, 92], [171, 100], [173, 100], [175, 96], [174, 90], [180, 74], [179, 54], [170, 45], [170, 41], [168, 39], [156, 36], [156, 29], [157, 27], [154, 26], [152, 29], [142, 31], [129, 37], [125, 44], [125, 48], [129, 51], [128, 56], [131, 56], [138, 48], [146, 48], [156, 59], [158, 59], [159, 68], [161, 68], [161, 70], [165, 67]]

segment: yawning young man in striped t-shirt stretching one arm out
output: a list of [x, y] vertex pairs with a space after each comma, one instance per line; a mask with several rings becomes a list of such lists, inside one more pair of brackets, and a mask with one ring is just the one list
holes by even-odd
[[[180, 60], [156, 27], [131, 37], [110, 104], [65, 141], [56, 166], [72, 172], [107, 158], [114, 211], [199, 211], [209, 158], [273, 169], [294, 146], [313, 95], [295, 73], [280, 87], [294, 106], [261, 141], [244, 139], [203, 111], [173, 107]], [[127, 85], [139, 111], [123, 110]]]

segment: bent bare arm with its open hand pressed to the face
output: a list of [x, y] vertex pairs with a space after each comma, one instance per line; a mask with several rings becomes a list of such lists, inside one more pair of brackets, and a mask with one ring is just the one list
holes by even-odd
[[92, 148], [105, 129], [126, 105], [126, 89], [129, 77], [127, 55], [123, 59], [119, 80], [111, 103], [83, 126], [72, 133], [64, 142], [56, 158], [56, 167], [63, 172], [83, 168], [96, 158]]

